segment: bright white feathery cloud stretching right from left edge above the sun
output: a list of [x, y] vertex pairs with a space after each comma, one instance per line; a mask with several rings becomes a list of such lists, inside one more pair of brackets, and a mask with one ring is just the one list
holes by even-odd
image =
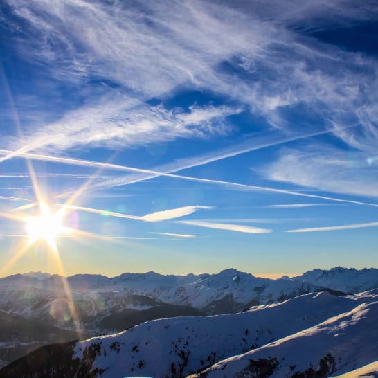
[[102, 98], [98, 104], [68, 111], [50, 124], [29, 125], [22, 138], [4, 138], [12, 150], [1, 161], [23, 153], [44, 150], [71, 150], [86, 147], [132, 147], [173, 141], [176, 138], [208, 138], [226, 134], [230, 126], [226, 117], [240, 113], [240, 107], [207, 106], [165, 109], [149, 107], [118, 96]]

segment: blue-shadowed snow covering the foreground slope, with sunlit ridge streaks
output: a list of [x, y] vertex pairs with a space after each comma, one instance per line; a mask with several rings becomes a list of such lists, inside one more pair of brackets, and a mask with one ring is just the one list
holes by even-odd
[[[208, 377], [219, 377], [219, 369], [224, 369], [222, 377], [233, 377], [250, 359], [276, 356], [280, 373], [272, 378], [278, 378], [289, 377], [290, 365], [296, 365], [294, 371], [305, 370], [309, 362], [316, 366], [331, 352], [342, 356], [338, 366], [347, 371], [377, 357], [377, 350], [369, 354], [378, 336], [371, 332], [378, 316], [377, 300], [370, 294], [343, 297], [323, 292], [239, 314], [150, 321], [82, 341], [74, 358], [82, 359], [85, 348], [98, 345], [92, 368], [107, 369], [102, 377], [165, 377], [172, 374], [172, 366], [189, 375], [224, 360]], [[334, 337], [341, 333], [347, 343], [344, 336]], [[360, 345], [362, 339], [367, 346], [359, 346], [356, 354], [352, 344]]]

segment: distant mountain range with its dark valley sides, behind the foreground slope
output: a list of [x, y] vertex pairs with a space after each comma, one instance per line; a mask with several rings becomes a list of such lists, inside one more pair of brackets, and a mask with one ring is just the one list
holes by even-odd
[[[17, 334], [10, 340], [0, 332], [0, 366], [36, 346], [69, 341], [62, 339], [62, 332], [68, 332], [71, 340], [82, 339], [81, 334], [88, 337], [121, 332], [158, 318], [231, 314], [322, 289], [341, 295], [342, 291], [378, 287], [377, 281], [378, 269], [340, 267], [330, 271], [315, 269], [303, 276], [278, 280], [236, 269], [187, 276], [150, 271], [123, 273], [114, 278], [93, 274], [68, 278], [41, 272], [15, 274], [0, 279], [0, 312], [19, 316], [30, 328], [34, 322], [38, 329], [42, 322], [60, 332], [42, 332], [39, 336], [31, 332], [28, 341]], [[0, 316], [0, 331], [5, 327], [6, 318]]]

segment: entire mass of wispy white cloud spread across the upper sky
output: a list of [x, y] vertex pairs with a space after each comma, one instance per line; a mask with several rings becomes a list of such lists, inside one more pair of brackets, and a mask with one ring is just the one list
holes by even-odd
[[[288, 106], [302, 106], [318, 115], [317, 127], [305, 125], [314, 132], [334, 125], [334, 134], [351, 145], [377, 141], [377, 99], [370, 90], [376, 85], [374, 62], [330, 46], [320, 49], [314, 37], [292, 27], [303, 15], [308, 30], [315, 23], [318, 26], [319, 19], [325, 24], [336, 20], [339, 25], [348, 24], [351, 15], [375, 19], [375, 8], [364, 4], [354, 12], [353, 4], [345, 1], [332, 5], [303, 1], [296, 3], [295, 12], [288, 12], [286, 3], [273, 3], [268, 9], [205, 1], [137, 2], [136, 6], [9, 1], [15, 15], [28, 24], [30, 40], [17, 41], [25, 56], [48, 66], [60, 80], [83, 85], [93, 78], [104, 85], [108, 80], [131, 93], [126, 98], [120, 95], [124, 91], [109, 87], [110, 96], [97, 104], [91, 99], [91, 105], [66, 112], [51, 125], [33, 125], [29, 136], [21, 144], [14, 141], [9, 149], [27, 152], [49, 145], [66, 150], [88, 143], [114, 147], [199, 136], [224, 129], [222, 118], [240, 109], [251, 109], [274, 127], [296, 134], [305, 121], [288, 122], [282, 114]], [[314, 60], [322, 62], [316, 71]], [[343, 70], [338, 70], [340, 64]], [[255, 80], [256, 71], [266, 75]], [[192, 107], [176, 114], [145, 104], [149, 98], [172, 96], [180, 88], [208, 89], [240, 105]], [[359, 136], [345, 129], [351, 125], [360, 125]], [[49, 140], [49, 129], [57, 138]]]

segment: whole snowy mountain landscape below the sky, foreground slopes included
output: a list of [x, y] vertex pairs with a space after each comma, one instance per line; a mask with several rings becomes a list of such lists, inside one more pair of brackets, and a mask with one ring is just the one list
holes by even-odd
[[[67, 287], [70, 288], [69, 294], [66, 293]], [[316, 340], [321, 340], [325, 334], [329, 333], [327, 326], [321, 323], [330, 321], [331, 318], [334, 318], [334, 324], [332, 323], [330, 327], [336, 329], [337, 324], [346, 324], [349, 321], [343, 318], [343, 314], [356, 311], [356, 313], [345, 315], [347, 318], [348, 316], [357, 318], [356, 314], [360, 313], [375, 314], [374, 302], [377, 297], [375, 291], [354, 294], [377, 287], [378, 269], [372, 268], [315, 269], [302, 276], [282, 277], [278, 280], [257, 278], [235, 269], [198, 276], [193, 274], [163, 276], [154, 272], [124, 273], [114, 278], [85, 274], [63, 278], [40, 272], [17, 274], [0, 279], [0, 330], [8, 327], [8, 332], [0, 332], [2, 338], [0, 358], [2, 366], [5, 366], [17, 357], [47, 343], [85, 339], [89, 336], [111, 334], [130, 328], [122, 334], [101, 336], [100, 339], [90, 339], [82, 343], [56, 344], [55, 347], [44, 346], [34, 353], [44, 353], [46, 350], [48, 354], [62, 353], [62, 356], [66, 356], [64, 357], [66, 361], [62, 365], [63, 370], [71, 366], [70, 363], [75, 354], [76, 357], [73, 360], [78, 361], [80, 369], [95, 374], [92, 370], [98, 368], [98, 373], [104, 370], [101, 375], [104, 377], [116, 375], [111, 375], [112, 368], [109, 368], [106, 362], [99, 361], [110, 358], [116, 361], [117, 354], [122, 354], [120, 359], [125, 361], [133, 357], [132, 363], [123, 367], [126, 369], [123, 370], [123, 376], [126, 376], [127, 371], [127, 374], [147, 374], [153, 377], [184, 377], [196, 372], [201, 372], [201, 377], [206, 377], [206, 375], [220, 377], [221, 375], [217, 375], [219, 369], [243, 371], [250, 368], [249, 361], [264, 361], [267, 359], [264, 353], [268, 353], [273, 359], [272, 377], [281, 377], [281, 373], [277, 372], [283, 371], [285, 364], [281, 359], [287, 352], [282, 352], [284, 353], [282, 354], [280, 351], [291, 348], [286, 345], [294, 345], [294, 341], [295, 344], [303, 344], [298, 347], [299, 349], [305, 349], [306, 342], [309, 340], [300, 339], [296, 334], [305, 332], [315, 339], [318, 338]], [[360, 305], [362, 307], [356, 309]], [[152, 321], [168, 317], [170, 319]], [[364, 324], [365, 317], [360, 318], [359, 323]], [[146, 321], [147, 323], [143, 323]], [[9, 325], [14, 325], [14, 327], [9, 327]], [[367, 325], [361, 325], [361, 327], [368, 329]], [[165, 330], [171, 330], [172, 334], [169, 336], [170, 332], [167, 334]], [[146, 346], [131, 341], [132, 334], [137, 334], [137, 339], [145, 340]], [[282, 341], [284, 339], [287, 340], [284, 342]], [[166, 344], [163, 344], [163, 340]], [[277, 343], [278, 340], [280, 340], [280, 345], [265, 348], [266, 345]], [[334, 336], [332, 340], [343, 341], [343, 338]], [[130, 344], [134, 342], [136, 344]], [[96, 346], [96, 349], [93, 346], [97, 343], [104, 345], [101, 347], [100, 354], [98, 354], [100, 347]], [[156, 343], [158, 345], [155, 345]], [[120, 348], [116, 348], [118, 344]], [[206, 348], [201, 344], [206, 345]], [[327, 340], [327, 345], [331, 344]], [[129, 345], [127, 348], [131, 351], [122, 345]], [[149, 350], [150, 347], [147, 348], [147, 345], [155, 351], [163, 348], [159, 352], [160, 357], [156, 357], [158, 359], [150, 360], [148, 356], [154, 353]], [[222, 348], [219, 350], [217, 345], [222, 345]], [[132, 351], [134, 347], [138, 349], [138, 352]], [[83, 353], [81, 355], [80, 348]], [[321, 348], [318, 354], [314, 354], [313, 360], [307, 363], [305, 359], [303, 365], [292, 362], [298, 359], [295, 357], [296, 353], [293, 352], [294, 357], [287, 366], [290, 370], [290, 366], [296, 365], [296, 370], [293, 368], [289, 373], [292, 372], [296, 378], [307, 377], [307, 375], [295, 376], [295, 374], [302, 374], [311, 366], [314, 371], [317, 371], [316, 366], [323, 366], [325, 369], [325, 365], [332, 367], [334, 363], [337, 366], [334, 372], [347, 371], [340, 368], [344, 357], [334, 352], [336, 347], [332, 348], [328, 352]], [[118, 349], [119, 352], [114, 354], [114, 351]], [[84, 352], [85, 350], [87, 352]], [[165, 366], [165, 370], [158, 372], [156, 371], [156, 366], [159, 365], [157, 361], [164, 360], [163, 350], [172, 358], [166, 361], [168, 368]], [[188, 350], [190, 350], [190, 358], [187, 356]], [[328, 353], [336, 360], [331, 359]], [[88, 362], [89, 354], [93, 354], [93, 358], [89, 359], [91, 361], [93, 359], [91, 363]], [[339, 357], [335, 357], [336, 354]], [[31, 355], [33, 353], [29, 354]], [[235, 355], [238, 356], [235, 357]], [[104, 357], [107, 358], [104, 359]], [[137, 361], [137, 357], [141, 358]], [[223, 361], [225, 359], [226, 361]], [[290, 361], [288, 357], [286, 359]], [[345, 359], [348, 360], [348, 357]], [[25, 363], [27, 360], [19, 361]], [[19, 363], [19, 361], [16, 362]], [[276, 364], [277, 361], [278, 364]], [[372, 361], [370, 357], [366, 361], [361, 360], [355, 368], [363, 366], [362, 363]], [[139, 365], [141, 365], [140, 368], [138, 368]], [[12, 364], [8, 367], [10, 366]], [[145, 370], [145, 366], [149, 366], [149, 369], [153, 368]], [[234, 368], [235, 366], [238, 367]], [[54, 369], [59, 370], [57, 366]], [[71, 366], [69, 369], [74, 368]], [[330, 374], [332, 369], [330, 368], [327, 374]], [[235, 374], [239, 374], [236, 372]], [[3, 377], [3, 375], [0, 376]], [[225, 376], [228, 377], [228, 375]], [[249, 376], [260, 377], [260, 375], [246, 375], [246, 377]], [[318, 376], [314, 375], [314, 377]]]

